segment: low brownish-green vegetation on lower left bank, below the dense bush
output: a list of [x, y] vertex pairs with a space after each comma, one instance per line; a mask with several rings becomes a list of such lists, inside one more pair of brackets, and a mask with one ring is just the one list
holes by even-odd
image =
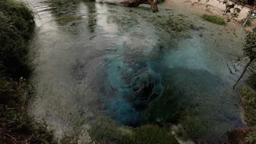
[[26, 80], [0, 78], [0, 143], [55, 143], [45, 124], [33, 121], [26, 111]]

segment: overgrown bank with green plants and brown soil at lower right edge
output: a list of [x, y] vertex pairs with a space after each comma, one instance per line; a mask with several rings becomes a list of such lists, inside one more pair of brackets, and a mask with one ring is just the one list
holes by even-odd
[[242, 121], [248, 127], [228, 131], [227, 138], [231, 144], [256, 143], [256, 74], [252, 74], [246, 85], [240, 88], [240, 108]]

